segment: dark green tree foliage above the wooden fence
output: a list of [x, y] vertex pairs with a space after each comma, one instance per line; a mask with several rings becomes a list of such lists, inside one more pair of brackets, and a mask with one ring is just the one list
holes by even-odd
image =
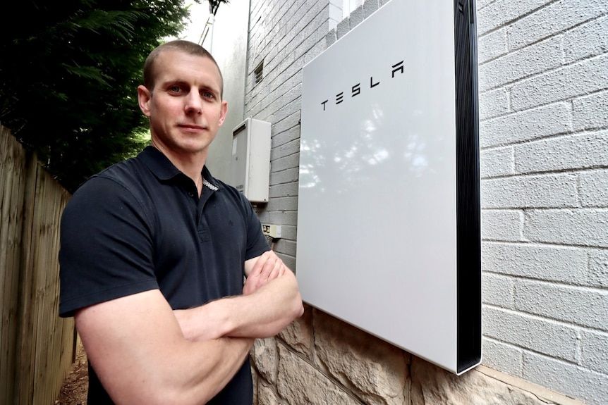
[[0, 123], [66, 189], [142, 149], [143, 63], [181, 32], [184, 0], [4, 1], [0, 15]]

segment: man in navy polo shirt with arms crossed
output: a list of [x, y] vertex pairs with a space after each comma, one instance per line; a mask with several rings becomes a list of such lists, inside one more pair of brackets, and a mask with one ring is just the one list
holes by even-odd
[[59, 311], [87, 352], [89, 405], [251, 404], [253, 340], [303, 313], [249, 202], [204, 166], [222, 92], [201, 46], [152, 51], [138, 87], [151, 146], [91, 177], [63, 212]]

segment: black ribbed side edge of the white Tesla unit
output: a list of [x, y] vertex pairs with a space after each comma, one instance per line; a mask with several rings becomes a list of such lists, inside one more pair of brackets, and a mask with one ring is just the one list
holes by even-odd
[[481, 219], [475, 0], [454, 0], [457, 373], [481, 361]]

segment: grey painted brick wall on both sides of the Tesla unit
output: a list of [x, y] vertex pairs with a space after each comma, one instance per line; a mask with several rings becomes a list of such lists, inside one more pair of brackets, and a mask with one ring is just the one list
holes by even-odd
[[[283, 225], [276, 250], [292, 268], [302, 67], [386, 2], [367, 0], [337, 25], [329, 0], [251, 2], [245, 116], [272, 122], [260, 218]], [[605, 404], [608, 0], [477, 8], [484, 364]]]

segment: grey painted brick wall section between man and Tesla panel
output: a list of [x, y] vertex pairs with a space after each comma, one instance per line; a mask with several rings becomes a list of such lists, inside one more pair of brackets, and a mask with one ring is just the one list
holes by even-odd
[[335, 25], [341, 19], [341, 9], [336, 11], [336, 4], [329, 1], [252, 1], [248, 72], [263, 61], [264, 77], [255, 85], [253, 75], [248, 75], [245, 116], [272, 123], [270, 199], [259, 215], [262, 223], [281, 225], [276, 251], [293, 269], [302, 68], [324, 49], [332, 19]]

